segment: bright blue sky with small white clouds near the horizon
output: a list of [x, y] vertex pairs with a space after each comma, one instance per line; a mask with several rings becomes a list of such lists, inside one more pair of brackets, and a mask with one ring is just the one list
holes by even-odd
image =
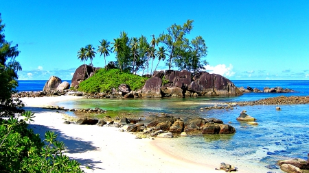
[[[19, 79], [71, 79], [77, 51], [121, 31], [150, 41], [194, 20], [188, 38], [208, 46], [208, 72], [231, 80], [309, 79], [309, 1], [2, 1], [5, 39], [19, 44]], [[115, 55], [107, 57], [115, 61]], [[89, 63], [89, 62], [88, 62]], [[94, 66], [104, 66], [99, 54]], [[167, 69], [160, 64], [158, 69]]]

